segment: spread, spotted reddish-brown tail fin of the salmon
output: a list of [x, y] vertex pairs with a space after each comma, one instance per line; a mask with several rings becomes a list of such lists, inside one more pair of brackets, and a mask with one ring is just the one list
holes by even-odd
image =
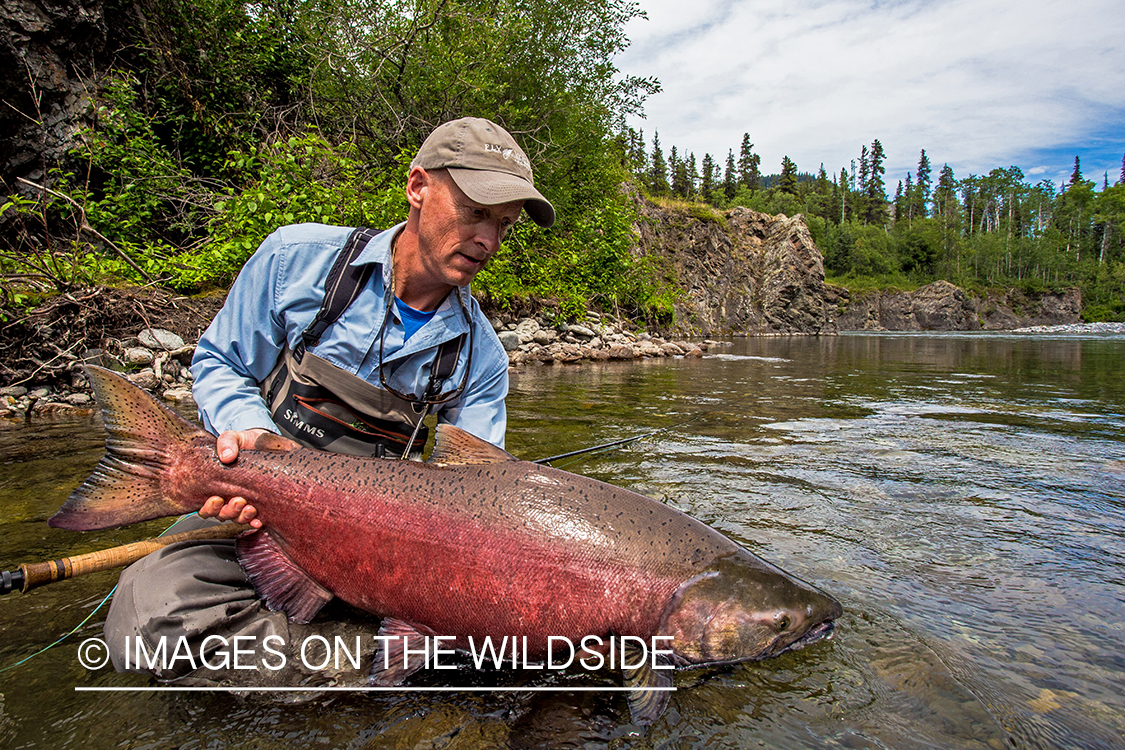
[[86, 374], [101, 406], [106, 455], [47, 524], [91, 531], [198, 510], [168, 497], [162, 480], [177, 445], [214, 437], [115, 372], [91, 365]]

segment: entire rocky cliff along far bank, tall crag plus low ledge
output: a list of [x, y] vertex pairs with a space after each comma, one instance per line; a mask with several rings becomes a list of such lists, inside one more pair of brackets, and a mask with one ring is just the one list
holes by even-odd
[[825, 282], [820, 250], [801, 216], [747, 208], [658, 206], [638, 199], [638, 253], [682, 290], [683, 336], [832, 334], [838, 331], [1006, 331], [1080, 322], [1078, 289], [972, 295], [950, 283], [852, 295]]

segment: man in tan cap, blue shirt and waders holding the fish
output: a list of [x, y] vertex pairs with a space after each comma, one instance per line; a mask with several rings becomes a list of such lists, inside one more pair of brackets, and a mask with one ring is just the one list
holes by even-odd
[[[405, 223], [385, 232], [282, 227], [238, 274], [192, 362], [204, 425], [231, 463], [263, 433], [338, 452], [421, 451], [438, 418], [503, 446], [507, 356], [469, 295], [521, 210], [555, 220], [512, 136], [485, 119], [438, 127], [411, 164]], [[342, 290], [342, 291], [341, 291]], [[205, 518], [260, 526], [243, 498], [213, 497]], [[177, 531], [206, 525], [189, 519]], [[127, 569], [106, 621], [115, 667], [130, 644], [169, 649], [208, 635], [286, 642], [234, 559], [232, 542], [177, 544]], [[190, 671], [158, 666], [159, 677]], [[137, 670], [132, 665], [130, 670]]]

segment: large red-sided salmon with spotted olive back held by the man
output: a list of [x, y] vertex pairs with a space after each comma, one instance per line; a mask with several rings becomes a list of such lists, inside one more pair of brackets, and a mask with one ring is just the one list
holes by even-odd
[[[384, 617], [385, 634], [441, 635], [462, 649], [525, 638], [524, 658], [547, 653], [551, 636], [670, 636], [670, 667], [776, 656], [829, 634], [842, 613], [678, 510], [520, 461], [456, 427], [439, 425], [426, 463], [269, 450], [267, 437], [267, 450], [224, 466], [214, 436], [125, 378], [87, 372], [107, 454], [48, 523], [106, 528], [194, 512], [213, 495], [244, 497], [263, 527], [238, 539], [238, 560], [266, 603], [297, 621], [336, 596]], [[644, 688], [670, 685], [667, 672], [626, 677], [638, 688], [634, 719], [654, 720], [667, 693]]]

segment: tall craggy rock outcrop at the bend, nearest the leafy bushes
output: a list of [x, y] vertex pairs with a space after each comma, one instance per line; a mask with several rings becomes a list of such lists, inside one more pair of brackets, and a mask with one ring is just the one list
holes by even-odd
[[678, 335], [836, 333], [838, 291], [801, 216], [722, 214], [640, 201], [638, 252], [683, 289]]

